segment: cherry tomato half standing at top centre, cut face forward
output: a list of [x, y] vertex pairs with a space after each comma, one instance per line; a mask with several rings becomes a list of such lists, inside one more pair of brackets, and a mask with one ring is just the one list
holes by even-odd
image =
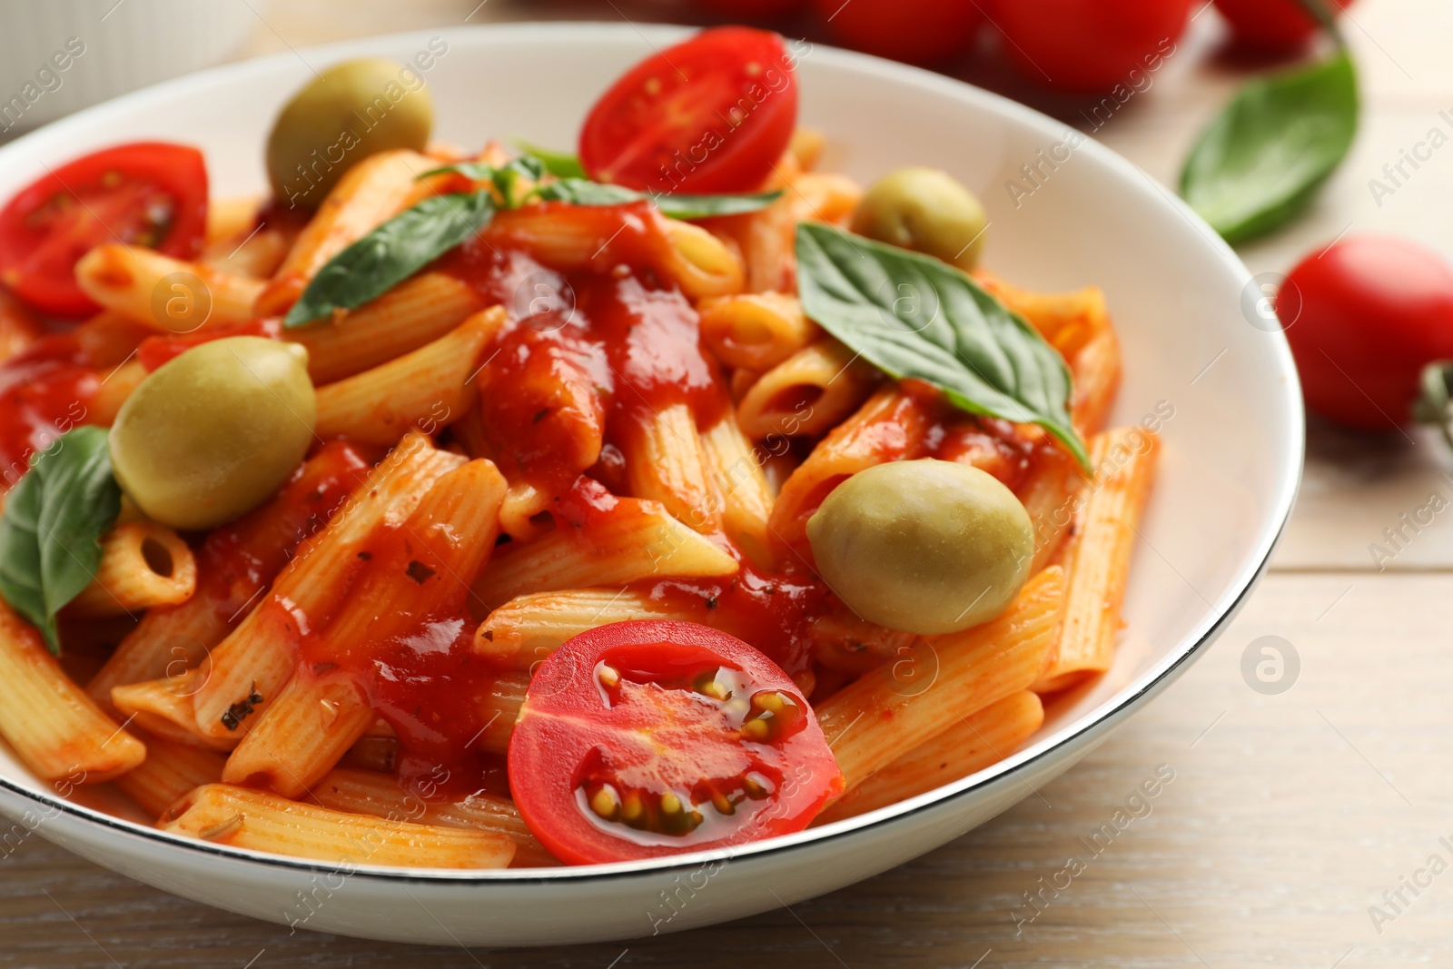
[[715, 28], [649, 57], [596, 102], [580, 132], [591, 177], [641, 192], [750, 192], [798, 121], [782, 38]]

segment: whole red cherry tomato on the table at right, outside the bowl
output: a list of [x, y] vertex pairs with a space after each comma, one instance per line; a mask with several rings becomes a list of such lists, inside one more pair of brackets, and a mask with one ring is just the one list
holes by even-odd
[[1418, 376], [1453, 357], [1453, 270], [1389, 235], [1356, 235], [1303, 259], [1282, 283], [1302, 309], [1282, 320], [1306, 405], [1348, 427], [1411, 421]]

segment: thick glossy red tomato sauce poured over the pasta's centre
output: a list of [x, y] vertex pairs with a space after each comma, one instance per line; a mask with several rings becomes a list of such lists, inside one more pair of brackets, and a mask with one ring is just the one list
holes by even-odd
[[584, 269], [561, 272], [511, 248], [525, 243], [507, 227], [440, 263], [510, 312], [511, 325], [485, 350], [481, 423], [506, 475], [552, 495], [596, 463], [603, 443], [654, 414], [686, 404], [697, 427], [711, 427], [729, 401], [695, 308], [638, 264], [665, 244], [641, 203], [562, 211], [609, 235]]

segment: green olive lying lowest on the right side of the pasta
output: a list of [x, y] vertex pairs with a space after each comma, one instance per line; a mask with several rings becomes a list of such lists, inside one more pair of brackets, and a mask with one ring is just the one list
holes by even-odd
[[808, 520], [808, 540], [853, 612], [921, 636], [998, 616], [1035, 558], [1013, 491], [978, 468], [933, 459], [857, 472]]

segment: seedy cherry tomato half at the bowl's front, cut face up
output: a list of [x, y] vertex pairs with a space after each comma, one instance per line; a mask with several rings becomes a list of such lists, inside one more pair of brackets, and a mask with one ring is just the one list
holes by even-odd
[[541, 664], [510, 738], [530, 831], [575, 864], [808, 827], [843, 792], [812, 708], [770, 660], [690, 622], [619, 622]]

